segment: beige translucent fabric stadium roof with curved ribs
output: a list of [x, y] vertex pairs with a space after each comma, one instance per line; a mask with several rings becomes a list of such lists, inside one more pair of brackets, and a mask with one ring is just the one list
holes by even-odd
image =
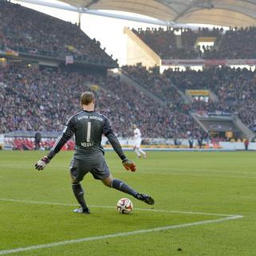
[[256, 26], [256, 0], [62, 0], [89, 10], [120, 10], [164, 22]]

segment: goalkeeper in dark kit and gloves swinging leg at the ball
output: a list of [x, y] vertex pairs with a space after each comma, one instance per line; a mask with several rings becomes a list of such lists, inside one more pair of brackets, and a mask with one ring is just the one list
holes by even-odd
[[36, 169], [38, 171], [43, 170], [63, 145], [75, 135], [76, 149], [70, 163], [69, 172], [73, 194], [81, 207], [75, 209], [74, 212], [89, 214], [89, 208], [85, 203], [84, 191], [80, 183], [88, 172], [93, 175], [94, 179], [100, 179], [107, 187], [123, 191], [145, 203], [154, 204], [154, 199], [151, 196], [139, 193], [122, 180], [112, 177], [104, 160], [104, 148], [101, 146], [102, 134], [108, 138], [127, 171], [136, 171], [136, 165], [126, 158], [119, 141], [112, 131], [108, 118], [96, 112], [94, 105], [95, 96], [93, 93], [85, 92], [81, 94], [83, 110], [69, 118], [62, 135], [49, 154], [35, 164]]

